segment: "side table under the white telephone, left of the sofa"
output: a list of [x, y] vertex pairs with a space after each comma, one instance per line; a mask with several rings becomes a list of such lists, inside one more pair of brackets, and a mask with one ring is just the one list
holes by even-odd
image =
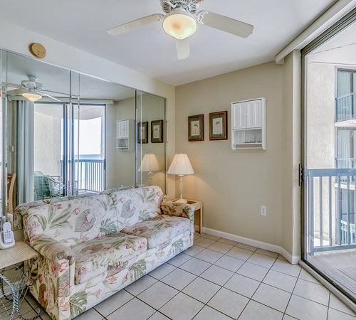
[[[23, 317], [20, 313], [20, 307], [25, 297], [28, 287], [32, 284], [27, 274], [31, 265], [36, 261], [38, 253], [24, 242], [16, 242], [14, 247], [0, 250], [0, 318], [14, 319], [15, 312], [19, 318]], [[34, 259], [27, 270], [22, 270], [23, 261]], [[20, 265], [18, 265], [20, 264]], [[13, 266], [13, 267], [11, 267]], [[14, 270], [17, 272], [16, 280], [11, 283], [10, 280], [4, 276], [4, 271]], [[38, 313], [31, 320], [36, 319], [41, 312]]]

